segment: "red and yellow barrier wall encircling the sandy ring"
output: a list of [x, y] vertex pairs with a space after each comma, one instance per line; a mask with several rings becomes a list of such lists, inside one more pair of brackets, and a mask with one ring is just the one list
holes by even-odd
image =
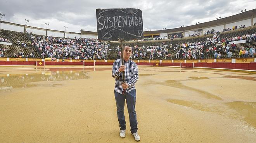
[[[22, 59], [22, 58], [0, 58], [0, 66], [35, 66], [36, 61], [45, 61], [45, 59]], [[100, 66], [113, 64], [113, 60], [64, 60], [45, 61], [46, 66], [79, 66], [85, 63], [85, 66]], [[213, 68], [213, 69], [235, 69], [256, 71], [256, 58], [247, 59], [205, 59], [205, 60], [170, 60], [170, 61], [138, 61], [138, 66], [170, 66], [170, 67], [192, 67], [194, 68]], [[154, 65], [156, 64], [156, 65]]]

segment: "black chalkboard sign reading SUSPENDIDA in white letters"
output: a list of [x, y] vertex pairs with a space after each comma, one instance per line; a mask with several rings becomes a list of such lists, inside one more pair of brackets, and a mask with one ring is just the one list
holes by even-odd
[[98, 39], [143, 39], [142, 11], [135, 8], [96, 9]]

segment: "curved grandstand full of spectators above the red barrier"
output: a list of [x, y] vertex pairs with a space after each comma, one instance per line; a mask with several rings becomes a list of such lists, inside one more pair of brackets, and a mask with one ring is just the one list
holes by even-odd
[[[144, 35], [156, 35], [159, 37], [169, 37], [169, 33], [179, 32], [183, 30], [185, 37], [175, 38], [175, 39], [162, 39], [162, 40], [145, 40], [145, 41], [126, 41], [124, 44], [131, 44], [133, 47], [133, 60], [174, 60], [174, 59], [214, 59], [214, 52], [221, 54], [220, 58], [225, 59], [227, 57], [227, 52], [225, 52], [225, 45], [221, 50], [222, 43], [231, 43], [233, 37], [242, 37], [245, 40], [246, 37], [250, 38], [250, 42], [237, 42], [236, 48], [232, 50], [232, 58], [241, 58], [239, 56], [239, 51], [241, 48], [246, 49], [246, 47], [255, 48], [255, 32], [256, 26], [252, 25], [254, 19], [244, 20], [244, 17], [254, 17], [255, 9], [247, 11], [245, 13], [240, 13], [233, 15], [231, 17], [223, 18], [221, 20], [214, 20], [212, 22], [205, 22], [199, 25], [192, 25], [189, 27], [181, 27], [176, 29], [166, 29], [158, 31], [145, 31]], [[241, 19], [240, 22], [237, 20], [234, 22], [233, 18]], [[233, 21], [232, 21], [233, 20]], [[225, 25], [220, 25], [221, 22], [227, 22]], [[22, 30], [13, 31], [11, 29], [1, 29], [0, 38], [8, 39], [11, 44], [5, 44], [2, 42], [0, 44], [1, 49], [6, 49], [3, 52], [3, 57], [22, 57], [22, 58], [56, 58], [56, 59], [104, 59], [104, 60], [115, 60], [119, 58], [118, 46], [119, 42], [100, 42], [93, 38], [93, 34], [97, 37], [97, 32], [89, 32], [81, 30], [81, 33], [74, 32], [64, 32], [61, 34], [60, 31], [46, 30], [43, 34], [43, 29], [36, 27], [29, 27], [24, 25], [13, 24], [10, 22], [3, 22], [2, 25], [15, 25], [16, 27], [24, 27], [24, 32]], [[215, 26], [213, 24], [219, 24], [220, 26]], [[229, 28], [230, 25], [246, 25], [245, 28], [229, 30], [222, 32], [222, 28]], [[199, 28], [202, 27], [202, 28]], [[205, 28], [204, 28], [205, 27]], [[202, 35], [201, 33], [195, 34], [199, 36], [190, 37], [189, 32], [197, 28], [198, 31], [207, 31], [208, 29], [216, 28], [213, 34]], [[34, 29], [34, 31], [33, 31]], [[201, 30], [200, 30], [201, 29]], [[231, 29], [231, 28], [230, 28]], [[38, 32], [41, 30], [41, 32]], [[31, 33], [29, 33], [29, 32]], [[220, 32], [218, 32], [220, 31]], [[167, 32], [167, 33], [166, 33]], [[48, 33], [48, 35], [47, 35]], [[41, 35], [43, 34], [43, 35]], [[59, 34], [59, 35], [58, 35]], [[91, 38], [86, 38], [91, 35]], [[64, 35], [64, 37], [62, 37]], [[165, 36], [164, 36], [165, 35]], [[186, 36], [187, 35], [187, 36]], [[193, 34], [194, 35], [194, 34]], [[218, 35], [218, 37], [216, 37]], [[71, 36], [71, 37], [69, 37]], [[215, 38], [214, 38], [215, 36]], [[36, 37], [36, 38], [35, 38]], [[148, 36], [147, 36], [148, 37]], [[147, 38], [148, 39], [148, 38]], [[160, 39], [160, 38], [155, 38]], [[224, 41], [223, 41], [224, 39]], [[229, 41], [228, 41], [229, 40]], [[239, 39], [240, 40], [240, 39]], [[211, 42], [214, 44], [211, 44]], [[221, 41], [221, 43], [218, 43]], [[217, 46], [218, 45], [218, 46]], [[229, 45], [230, 46], [230, 45]], [[216, 47], [215, 51], [208, 52], [208, 49]], [[46, 48], [46, 49], [45, 49]], [[153, 50], [154, 51], [153, 51]], [[211, 49], [211, 48], [210, 48]], [[230, 47], [231, 50], [231, 47]], [[177, 52], [179, 52], [177, 54]], [[42, 54], [43, 53], [43, 54]], [[209, 54], [211, 53], [211, 54]], [[176, 57], [176, 55], [178, 55]], [[251, 56], [252, 57], [252, 56]]]

